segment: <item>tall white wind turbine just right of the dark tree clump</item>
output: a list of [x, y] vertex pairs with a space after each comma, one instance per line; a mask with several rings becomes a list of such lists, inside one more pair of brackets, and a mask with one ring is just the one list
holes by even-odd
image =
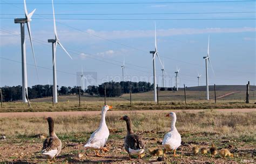
[[156, 80], [156, 56], [158, 57], [161, 66], [163, 66], [157, 51], [157, 28], [156, 22], [154, 23], [154, 51], [150, 51], [153, 54], [153, 83], [154, 83], [154, 101], [157, 102], [157, 80]]

